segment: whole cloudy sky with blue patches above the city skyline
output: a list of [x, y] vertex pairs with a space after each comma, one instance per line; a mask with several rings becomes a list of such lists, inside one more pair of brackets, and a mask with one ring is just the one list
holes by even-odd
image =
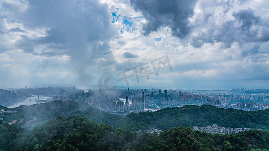
[[266, 0], [0, 0], [0, 88], [266, 89], [268, 48]]

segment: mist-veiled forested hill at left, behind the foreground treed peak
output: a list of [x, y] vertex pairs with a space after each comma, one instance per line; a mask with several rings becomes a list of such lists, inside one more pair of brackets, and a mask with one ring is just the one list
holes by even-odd
[[84, 102], [74, 101], [53, 101], [50, 103], [34, 104], [30, 106], [22, 105], [14, 108], [14, 110], [18, 110], [19, 112], [9, 115], [0, 115], [0, 117], [4, 118], [4, 121], [6, 122], [11, 122], [12, 120], [19, 121], [20, 119], [28, 121], [36, 118], [36, 121], [26, 125], [27, 127], [40, 126], [59, 116], [68, 117], [70, 115], [81, 115], [98, 123], [107, 125], [114, 125], [122, 118], [91, 107]]

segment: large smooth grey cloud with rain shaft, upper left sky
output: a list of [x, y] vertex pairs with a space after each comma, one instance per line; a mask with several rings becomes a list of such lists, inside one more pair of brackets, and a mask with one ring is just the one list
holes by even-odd
[[112, 16], [106, 5], [71, 0], [29, 0], [26, 5], [27, 9], [20, 12], [14, 4], [2, 4], [9, 18], [22, 23], [25, 29], [47, 30], [37, 38], [28, 33], [21, 35], [15, 49], [34, 55], [70, 56], [69, 68], [76, 72], [77, 84], [84, 86], [91, 81], [93, 68], [116, 62], [113, 53], [105, 53], [110, 51], [109, 42], [117, 32], [111, 26]]

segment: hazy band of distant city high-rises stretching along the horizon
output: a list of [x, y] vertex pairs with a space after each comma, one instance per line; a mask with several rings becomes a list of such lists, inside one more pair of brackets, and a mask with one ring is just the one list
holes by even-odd
[[[183, 105], [211, 105], [219, 108], [234, 108], [244, 111], [269, 108], [267, 89], [231, 90], [182, 90], [182, 89], [130, 89], [108, 92], [104, 89], [79, 90], [76, 87], [44, 87], [17, 90], [0, 90], [0, 103], [12, 104], [18, 96], [49, 96], [51, 100], [83, 101], [105, 112], [127, 115], [130, 112], [154, 111]], [[23, 98], [23, 97], [21, 97]]]

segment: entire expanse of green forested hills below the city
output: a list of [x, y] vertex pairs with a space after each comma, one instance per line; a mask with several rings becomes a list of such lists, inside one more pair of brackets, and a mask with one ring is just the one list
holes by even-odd
[[[73, 101], [20, 106], [15, 110], [19, 112], [0, 116], [6, 122], [7, 118], [28, 120], [36, 117], [38, 120], [13, 125], [0, 120], [0, 150], [218, 150], [219, 145], [223, 150], [269, 149], [268, 131], [221, 135], [187, 128], [214, 123], [268, 129], [268, 110], [244, 112], [191, 105], [130, 113], [122, 118]], [[26, 129], [29, 125], [35, 128]], [[136, 133], [149, 128], [168, 130], [159, 135]]]

